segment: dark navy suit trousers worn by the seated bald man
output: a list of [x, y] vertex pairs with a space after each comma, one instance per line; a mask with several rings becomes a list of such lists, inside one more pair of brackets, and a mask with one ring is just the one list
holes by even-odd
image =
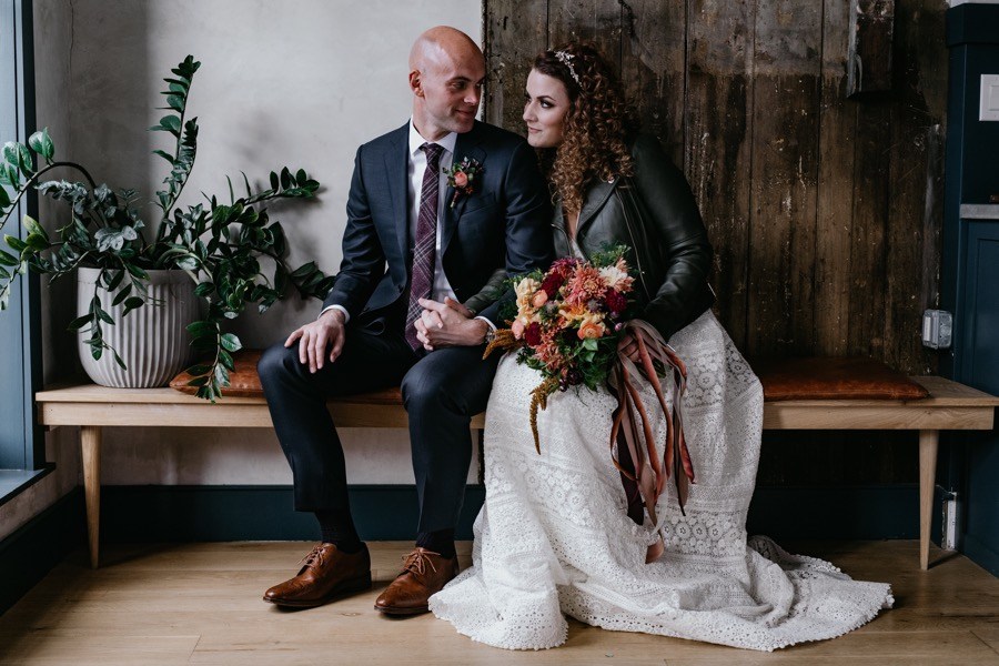
[[418, 532], [457, 524], [472, 462], [472, 416], [488, 402], [500, 354], [483, 345], [414, 352], [401, 332], [346, 327], [341, 356], [315, 373], [299, 347], [279, 343], [259, 372], [281, 447], [292, 468], [296, 511], [350, 506], [343, 446], [326, 398], [400, 385], [420, 503]]

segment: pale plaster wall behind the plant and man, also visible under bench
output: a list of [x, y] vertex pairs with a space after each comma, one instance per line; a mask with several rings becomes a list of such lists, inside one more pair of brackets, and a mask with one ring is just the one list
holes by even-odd
[[[403, 124], [411, 110], [406, 57], [425, 28], [446, 23], [481, 40], [482, 7], [471, 0], [36, 0], [38, 125], [57, 154], [82, 162], [113, 188], [154, 196], [165, 175], [170, 138], [148, 132], [162, 111], [161, 78], [191, 53], [202, 62], [189, 114], [201, 127], [199, 154], [182, 202], [228, 193], [225, 175], [265, 182], [282, 165], [304, 168], [323, 184], [319, 201], [272, 206], [285, 226], [293, 263], [315, 260], [335, 272], [353, 157], [367, 139]], [[67, 211], [43, 203], [42, 222]], [[155, 209], [147, 206], [147, 219]], [[79, 372], [74, 285], [44, 289], [46, 380]], [[264, 346], [317, 313], [292, 299], [233, 330]], [[63, 473], [0, 511], [0, 536], [74, 485], [74, 433], [50, 435], [50, 460]], [[58, 435], [59, 438], [54, 438]], [[391, 430], [345, 431], [353, 483], [412, 483], [408, 440]], [[271, 432], [111, 430], [102, 474], [108, 484], [287, 484], [291, 474]], [[68, 472], [67, 472], [68, 471]], [[474, 477], [474, 471], [472, 473]], [[10, 506], [10, 505], [8, 505]], [[17, 517], [14, 517], [17, 516]]]

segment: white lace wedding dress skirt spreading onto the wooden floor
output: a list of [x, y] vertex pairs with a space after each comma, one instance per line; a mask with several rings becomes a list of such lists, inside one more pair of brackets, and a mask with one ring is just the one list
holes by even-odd
[[[710, 312], [670, 344], [688, 370], [684, 421], [696, 484], [686, 517], [672, 480], [660, 497], [663, 557], [645, 564], [655, 528], [626, 515], [608, 451], [614, 397], [556, 393], [538, 416], [538, 455], [527, 413], [539, 379], [508, 354], [488, 403], [486, 500], [475, 521], [473, 566], [431, 598], [437, 617], [512, 649], [564, 643], [565, 613], [607, 629], [773, 650], [839, 636], [890, 607], [886, 584], [852, 581], [766, 537], [747, 542], [763, 425], [759, 381]], [[652, 407], [655, 395], [645, 389]], [[665, 427], [662, 416], [658, 426]]]

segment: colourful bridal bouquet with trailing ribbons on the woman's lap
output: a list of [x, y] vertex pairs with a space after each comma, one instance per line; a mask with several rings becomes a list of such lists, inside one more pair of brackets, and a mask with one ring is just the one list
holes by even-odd
[[[694, 467], [683, 433], [680, 400], [687, 371], [652, 325], [634, 319], [635, 279], [624, 256], [628, 248], [619, 245], [594, 254], [591, 261], [559, 259], [547, 272], [535, 271], [515, 278], [516, 314], [507, 317], [509, 329], [496, 331], [486, 346], [517, 351], [517, 362], [532, 367], [542, 382], [531, 392], [531, 431], [535, 450], [541, 453], [537, 412], [547, 406], [556, 390], [585, 386], [596, 391], [606, 386], [617, 396], [612, 415], [610, 452], [615, 466], [638, 485], [649, 517], [656, 521], [655, 503], [665, 481], [675, 475], [680, 509], [694, 482]], [[637, 353], [633, 361], [618, 350], [627, 333]], [[666, 442], [659, 457], [649, 415], [642, 404], [632, 377], [643, 376], [655, 390], [666, 416]], [[670, 376], [674, 383], [673, 410], [659, 382]], [[635, 418], [637, 412], [639, 418]], [[619, 445], [628, 450], [633, 468], [618, 462]]]

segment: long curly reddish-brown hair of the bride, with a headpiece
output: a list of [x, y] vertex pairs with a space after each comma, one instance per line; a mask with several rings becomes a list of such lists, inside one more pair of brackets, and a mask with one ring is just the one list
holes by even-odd
[[553, 198], [561, 196], [565, 212], [575, 214], [591, 181], [634, 174], [628, 143], [638, 131], [638, 117], [614, 68], [592, 44], [569, 42], [543, 51], [534, 69], [562, 81], [572, 102], [562, 143], [541, 149], [538, 158]]

